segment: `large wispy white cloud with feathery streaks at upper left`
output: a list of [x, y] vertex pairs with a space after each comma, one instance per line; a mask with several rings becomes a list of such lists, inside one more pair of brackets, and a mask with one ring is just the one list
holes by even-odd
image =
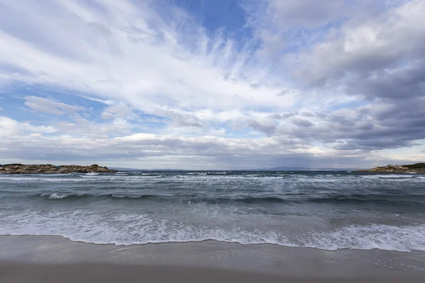
[[[9, 11], [13, 5], [8, 2], [1, 16], [16, 16]], [[217, 112], [233, 110], [234, 105], [286, 109], [297, 100], [295, 96], [276, 97], [285, 82], [250, 56], [254, 45], [246, 43], [239, 52], [232, 40], [220, 34], [208, 37], [205, 30], [189, 24], [181, 11], [162, 19], [150, 6], [119, 1], [103, 4], [115, 17], [108, 18], [77, 1], [57, 4], [55, 14], [39, 11], [37, 5], [29, 3], [18, 16], [32, 19], [30, 30], [35, 35], [42, 30], [51, 42], [60, 44], [52, 50], [45, 42], [28, 42], [1, 32], [0, 63], [25, 70], [18, 76], [22, 81], [123, 101], [153, 115], [187, 108]], [[28, 25], [29, 21], [20, 23], [21, 28]], [[61, 26], [67, 27], [67, 36]], [[142, 39], [135, 40], [137, 36]], [[72, 52], [69, 46], [79, 52]], [[226, 74], [232, 80], [223, 79]], [[252, 84], [258, 87], [252, 88]]]

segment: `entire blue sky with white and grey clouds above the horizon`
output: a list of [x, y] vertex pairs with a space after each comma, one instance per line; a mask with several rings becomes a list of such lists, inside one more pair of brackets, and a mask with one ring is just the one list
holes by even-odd
[[0, 163], [425, 161], [425, 0], [0, 0]]

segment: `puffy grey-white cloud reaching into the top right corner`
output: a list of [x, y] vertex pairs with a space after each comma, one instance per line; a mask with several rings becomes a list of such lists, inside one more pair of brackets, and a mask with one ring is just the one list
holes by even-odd
[[373, 76], [374, 71], [423, 58], [424, 12], [424, 1], [413, 0], [380, 16], [358, 15], [302, 55], [296, 74], [308, 83], [324, 83], [351, 73]]

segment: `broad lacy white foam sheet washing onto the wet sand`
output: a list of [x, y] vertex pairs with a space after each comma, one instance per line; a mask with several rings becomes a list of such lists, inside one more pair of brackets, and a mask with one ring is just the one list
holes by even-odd
[[0, 214], [1, 235], [54, 235], [72, 241], [128, 246], [215, 240], [242, 244], [319, 248], [323, 250], [425, 250], [425, 226], [370, 224], [344, 226], [323, 233], [300, 233], [290, 238], [276, 231], [232, 226], [193, 226], [181, 221], [152, 219], [143, 214], [112, 212], [37, 212]]

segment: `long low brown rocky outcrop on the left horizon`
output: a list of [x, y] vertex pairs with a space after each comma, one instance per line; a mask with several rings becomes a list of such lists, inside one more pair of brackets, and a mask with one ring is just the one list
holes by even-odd
[[0, 174], [61, 174], [61, 173], [115, 173], [118, 172], [97, 164], [91, 166], [63, 165], [54, 166], [50, 164], [24, 165], [7, 164], [0, 165]]

